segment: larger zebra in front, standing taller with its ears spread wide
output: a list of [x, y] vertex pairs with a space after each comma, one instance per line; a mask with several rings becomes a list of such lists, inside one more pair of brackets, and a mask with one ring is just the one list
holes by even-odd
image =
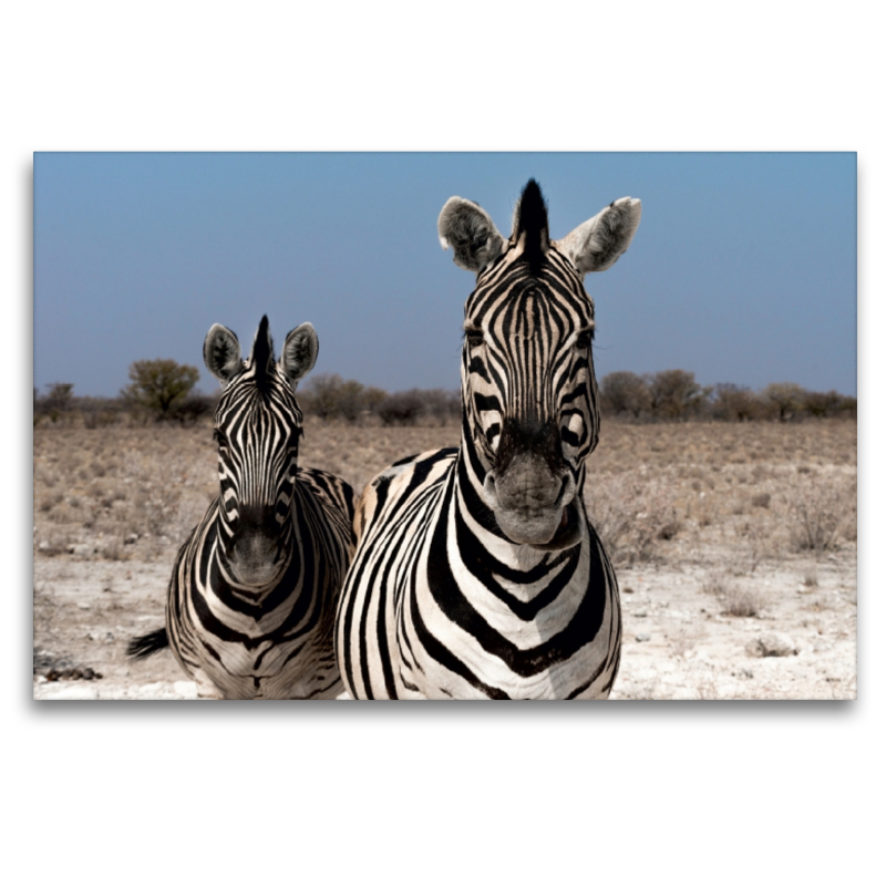
[[588, 271], [640, 223], [624, 197], [560, 240], [529, 179], [505, 239], [452, 197], [443, 248], [474, 271], [462, 344], [462, 439], [402, 459], [357, 504], [336, 617], [356, 699], [608, 698], [618, 584], [583, 501], [599, 406]]

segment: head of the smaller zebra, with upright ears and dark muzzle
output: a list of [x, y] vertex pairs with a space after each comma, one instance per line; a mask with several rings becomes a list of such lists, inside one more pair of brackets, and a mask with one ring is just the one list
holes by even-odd
[[318, 349], [313, 327], [302, 323], [286, 337], [276, 361], [267, 317], [246, 361], [229, 329], [216, 323], [206, 336], [203, 359], [224, 389], [214, 434], [223, 564], [238, 585], [266, 586], [288, 565], [302, 433], [296, 387], [317, 361]]

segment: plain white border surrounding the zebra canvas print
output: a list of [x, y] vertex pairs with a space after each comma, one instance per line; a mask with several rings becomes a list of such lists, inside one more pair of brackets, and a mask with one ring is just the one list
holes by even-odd
[[[269, 862], [292, 879], [380, 866], [447, 883], [600, 867], [865, 882], [884, 771], [883, 595], [866, 553], [882, 526], [886, 292], [874, 8], [246, 9], [44, 2], [4, 16], [0, 267], [18, 420], [3, 509], [8, 868], [27, 861], [42, 882], [84, 868], [99, 882], [255, 879]], [[32, 152], [317, 148], [858, 151], [857, 702], [280, 717], [29, 701]]]

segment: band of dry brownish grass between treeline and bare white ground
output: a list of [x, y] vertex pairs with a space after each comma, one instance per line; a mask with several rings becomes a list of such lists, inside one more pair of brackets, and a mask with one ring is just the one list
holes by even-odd
[[[461, 427], [358, 427], [309, 418], [300, 464], [361, 492], [406, 455], [459, 444]], [[604, 421], [586, 502], [620, 564], [686, 562], [698, 549], [746, 558], [852, 546], [856, 425]], [[171, 558], [217, 495], [209, 423], [34, 429], [35, 552]], [[137, 540], [136, 540], [137, 537]], [[95, 553], [97, 550], [97, 553]], [[696, 560], [698, 562], [698, 560]]]

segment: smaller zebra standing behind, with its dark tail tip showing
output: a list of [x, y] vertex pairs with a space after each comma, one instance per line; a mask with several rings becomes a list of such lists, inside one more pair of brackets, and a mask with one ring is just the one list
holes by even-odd
[[166, 646], [198, 693], [227, 699], [329, 699], [342, 692], [332, 645], [352, 544], [353, 491], [297, 466], [298, 381], [318, 353], [302, 323], [279, 362], [267, 316], [248, 361], [212, 327], [206, 367], [222, 382], [215, 413], [220, 493], [178, 552], [166, 627], [131, 641], [145, 658]]

